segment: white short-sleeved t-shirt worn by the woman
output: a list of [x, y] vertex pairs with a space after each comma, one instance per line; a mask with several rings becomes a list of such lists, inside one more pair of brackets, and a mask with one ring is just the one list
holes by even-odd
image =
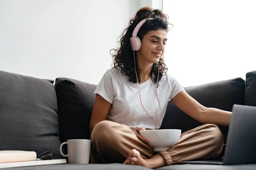
[[[147, 113], [157, 122], [157, 129], [161, 126], [169, 99], [175, 97], [184, 88], [171, 75], [166, 73], [158, 82], [158, 88], [151, 79], [139, 84], [141, 102]], [[156, 92], [157, 89], [157, 92]], [[100, 80], [94, 94], [101, 95], [112, 104], [107, 120], [126, 125], [154, 129], [152, 119], [144, 111], [141, 103], [137, 83], [128, 81], [122, 74], [121, 68], [111, 68]], [[159, 98], [160, 106], [157, 100]], [[159, 116], [160, 115], [160, 116]], [[157, 121], [158, 118], [158, 121]]]

